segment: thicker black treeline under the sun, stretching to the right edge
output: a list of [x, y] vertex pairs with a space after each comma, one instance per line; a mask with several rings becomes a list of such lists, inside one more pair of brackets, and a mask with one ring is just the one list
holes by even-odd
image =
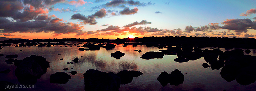
[[166, 45], [189, 45], [197, 47], [219, 47], [219, 48], [256, 48], [254, 38], [221, 38], [221, 37], [143, 37], [143, 38], [117, 38], [114, 43], [141, 42], [143, 45], [166, 44]]

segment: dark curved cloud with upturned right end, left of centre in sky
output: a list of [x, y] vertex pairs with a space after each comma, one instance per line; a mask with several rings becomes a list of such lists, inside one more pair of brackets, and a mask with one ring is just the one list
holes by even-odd
[[106, 10], [102, 8], [101, 10], [97, 11], [93, 15], [90, 15], [87, 17], [84, 15], [81, 15], [80, 13], [76, 13], [71, 16], [71, 19], [78, 19], [83, 21], [84, 24], [90, 23], [90, 25], [95, 25], [97, 24], [95, 18], [102, 18], [107, 15], [106, 13], [107, 13]]

